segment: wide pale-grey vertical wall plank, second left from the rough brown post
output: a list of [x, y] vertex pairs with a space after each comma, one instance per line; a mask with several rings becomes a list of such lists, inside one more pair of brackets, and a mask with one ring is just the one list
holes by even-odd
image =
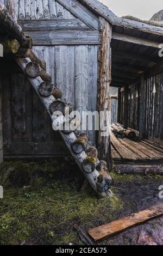
[[[81, 115], [89, 109], [88, 89], [88, 47], [76, 46], [75, 48], [75, 109]], [[86, 122], [82, 119], [86, 132]]]

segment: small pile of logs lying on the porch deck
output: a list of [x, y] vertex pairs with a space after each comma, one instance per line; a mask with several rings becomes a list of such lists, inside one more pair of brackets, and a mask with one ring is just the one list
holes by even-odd
[[124, 127], [119, 123], [111, 124], [110, 130], [112, 131], [112, 133], [114, 133], [116, 137], [119, 138], [127, 137], [134, 141], [138, 136], [135, 130], [130, 128], [124, 129]]

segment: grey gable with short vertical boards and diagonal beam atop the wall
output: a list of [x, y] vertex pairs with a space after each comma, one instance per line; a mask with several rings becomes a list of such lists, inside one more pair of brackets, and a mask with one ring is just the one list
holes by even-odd
[[[18, 20], [79, 19], [90, 29], [98, 30], [98, 16], [79, 0], [19, 0], [16, 3]], [[29, 2], [29, 3], [28, 3]]]

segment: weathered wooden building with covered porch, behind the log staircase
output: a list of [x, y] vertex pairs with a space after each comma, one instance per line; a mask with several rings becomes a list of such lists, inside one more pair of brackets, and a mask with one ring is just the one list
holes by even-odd
[[[8, 2], [0, 1], [6, 6]], [[46, 72], [62, 91], [62, 101], [80, 112], [107, 111], [109, 89], [118, 88], [118, 122], [139, 131], [140, 139], [151, 140], [163, 159], [163, 62], [159, 57], [163, 28], [116, 17], [97, 0], [13, 2], [18, 25], [33, 39], [33, 51], [46, 63]], [[52, 130], [20, 66], [8, 54], [0, 58], [1, 158], [68, 156], [63, 137]], [[91, 144], [97, 145], [99, 159], [111, 166], [110, 137], [101, 137], [101, 132], [87, 134]], [[115, 147], [112, 155], [123, 159]]]

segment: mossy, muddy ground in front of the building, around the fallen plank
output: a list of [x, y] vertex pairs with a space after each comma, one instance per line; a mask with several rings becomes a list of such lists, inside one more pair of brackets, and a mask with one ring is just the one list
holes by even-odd
[[[163, 203], [162, 176], [111, 176], [114, 197], [101, 199], [90, 186], [79, 191], [84, 177], [70, 160], [5, 162], [0, 167], [0, 244], [83, 245], [75, 223], [87, 230]], [[144, 232], [163, 245], [163, 216], [98, 244], [143, 245], [139, 237]]]

